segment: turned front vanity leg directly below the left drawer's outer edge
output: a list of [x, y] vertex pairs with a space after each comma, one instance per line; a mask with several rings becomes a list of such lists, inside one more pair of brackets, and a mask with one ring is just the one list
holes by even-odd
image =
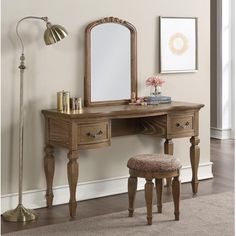
[[67, 175], [68, 175], [68, 182], [70, 187], [70, 201], [69, 201], [69, 209], [70, 209], [70, 216], [76, 216], [76, 186], [78, 181], [78, 151], [69, 151], [68, 153], [69, 162], [67, 164]]

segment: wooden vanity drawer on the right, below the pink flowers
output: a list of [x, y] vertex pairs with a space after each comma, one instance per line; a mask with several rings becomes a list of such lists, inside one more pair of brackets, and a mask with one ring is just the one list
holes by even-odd
[[193, 114], [169, 116], [169, 134], [173, 136], [189, 136], [194, 133]]

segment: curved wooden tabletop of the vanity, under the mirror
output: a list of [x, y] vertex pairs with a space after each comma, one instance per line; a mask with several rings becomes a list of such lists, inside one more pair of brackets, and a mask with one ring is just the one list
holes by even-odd
[[186, 111], [186, 110], [199, 110], [204, 107], [199, 103], [177, 102], [172, 101], [168, 104], [158, 105], [113, 105], [101, 107], [83, 107], [80, 111], [70, 111], [69, 113], [61, 112], [56, 109], [42, 110], [46, 116], [57, 116], [61, 118], [92, 118], [92, 117], [109, 117], [109, 118], [122, 118], [122, 117], [145, 117], [150, 115], [167, 114], [168, 112]]

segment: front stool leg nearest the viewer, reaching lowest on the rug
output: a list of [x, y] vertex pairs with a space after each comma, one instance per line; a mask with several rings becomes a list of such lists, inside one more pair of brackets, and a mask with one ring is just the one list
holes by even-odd
[[152, 224], [152, 196], [153, 196], [153, 183], [151, 179], [146, 179], [145, 184], [145, 200], [147, 205], [147, 222], [148, 225]]

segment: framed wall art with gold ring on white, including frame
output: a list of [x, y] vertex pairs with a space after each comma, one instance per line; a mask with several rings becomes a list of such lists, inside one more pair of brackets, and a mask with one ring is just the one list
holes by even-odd
[[160, 17], [160, 73], [198, 70], [197, 18]]

